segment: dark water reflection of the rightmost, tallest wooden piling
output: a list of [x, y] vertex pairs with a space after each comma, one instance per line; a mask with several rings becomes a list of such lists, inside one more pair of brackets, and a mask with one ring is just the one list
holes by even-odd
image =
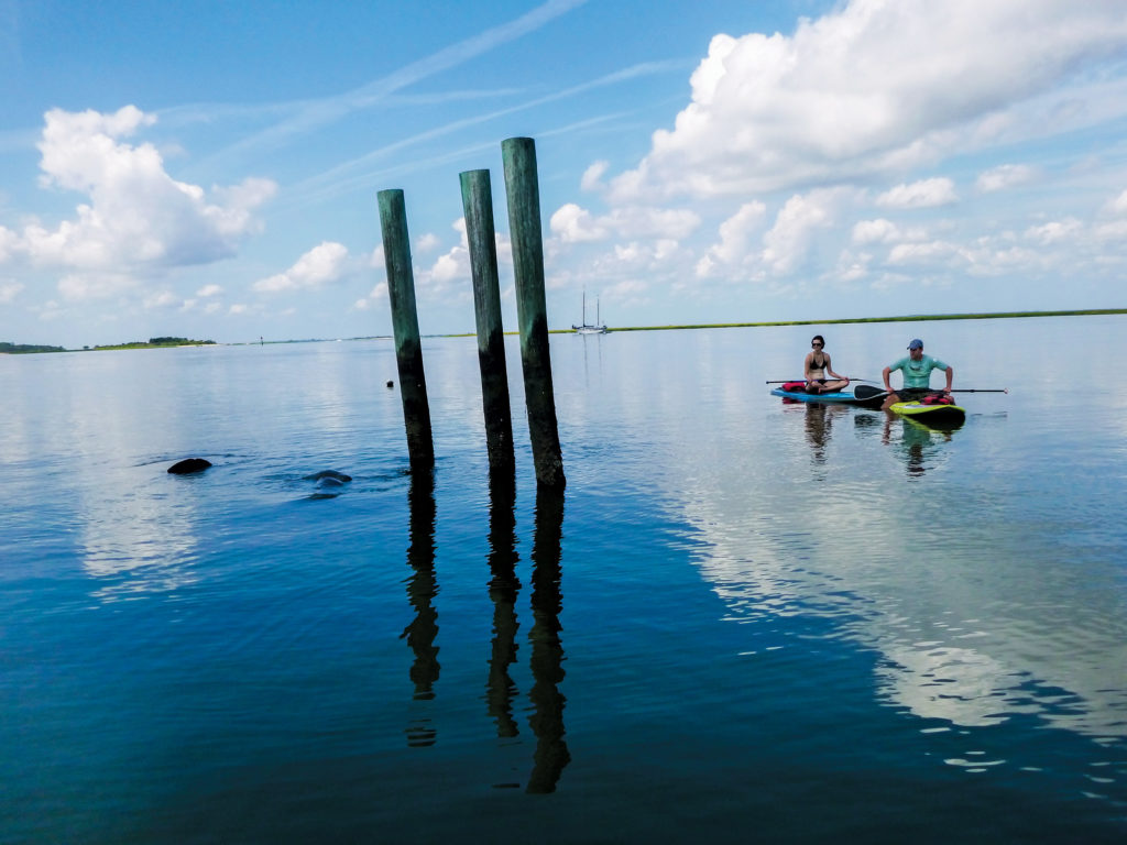
[[564, 490], [543, 484], [536, 489], [535, 535], [532, 542], [532, 714], [529, 724], [536, 735], [532, 773], [526, 792], [556, 790], [560, 774], [571, 760], [564, 740], [564, 705], [559, 691], [564, 679], [564, 646], [560, 642], [560, 540], [564, 526]]

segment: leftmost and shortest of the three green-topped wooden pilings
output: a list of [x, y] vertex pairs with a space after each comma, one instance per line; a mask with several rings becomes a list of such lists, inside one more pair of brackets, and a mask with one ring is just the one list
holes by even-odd
[[429, 470], [434, 466], [434, 441], [431, 436], [431, 406], [426, 398], [418, 313], [415, 310], [415, 274], [411, 272], [411, 249], [407, 239], [403, 192], [398, 188], [381, 190], [379, 202], [391, 327], [399, 367], [399, 397], [407, 427], [407, 452], [412, 471]]

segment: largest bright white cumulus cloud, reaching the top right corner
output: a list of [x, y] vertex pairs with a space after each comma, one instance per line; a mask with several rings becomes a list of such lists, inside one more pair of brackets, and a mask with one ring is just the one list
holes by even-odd
[[1005, 132], [1044, 133], [1022, 108], [1072, 86], [1074, 114], [1089, 101], [1107, 112], [1083, 70], [1125, 44], [1121, 0], [851, 0], [792, 35], [717, 35], [691, 103], [610, 195], [746, 195], [898, 174]]

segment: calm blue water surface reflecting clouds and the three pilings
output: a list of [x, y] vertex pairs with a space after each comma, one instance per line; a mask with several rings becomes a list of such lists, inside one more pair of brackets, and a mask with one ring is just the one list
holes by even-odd
[[553, 336], [562, 497], [515, 338], [492, 486], [472, 339], [433, 479], [388, 341], [0, 356], [0, 840], [1121, 842], [1125, 324], [825, 327], [1010, 388], [949, 433], [770, 397], [804, 327]]

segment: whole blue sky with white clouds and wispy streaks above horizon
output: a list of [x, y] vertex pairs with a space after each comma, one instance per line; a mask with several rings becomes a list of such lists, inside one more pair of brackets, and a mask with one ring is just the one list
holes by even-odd
[[549, 321], [1121, 308], [1121, 0], [0, 0], [0, 340], [473, 327], [458, 175], [536, 140]]

